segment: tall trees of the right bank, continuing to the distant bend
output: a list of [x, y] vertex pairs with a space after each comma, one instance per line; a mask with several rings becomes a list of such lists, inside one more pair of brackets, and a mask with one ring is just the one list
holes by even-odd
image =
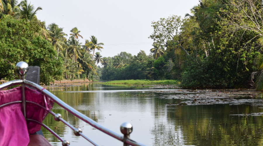
[[[149, 38], [154, 41], [150, 51], [155, 61], [137, 62], [133, 68], [135, 57], [128, 63], [115, 57], [112, 60], [121, 65], [115, 70], [105, 65], [102, 77], [180, 79], [183, 88], [240, 88], [254, 84], [254, 78], [249, 81], [253, 72], [257, 90], [262, 90], [263, 67], [254, 65], [262, 53], [261, 11], [261, 1], [201, 0], [185, 18], [172, 15], [152, 22]], [[137, 74], [144, 71], [145, 76], [133, 76], [129, 68]]]

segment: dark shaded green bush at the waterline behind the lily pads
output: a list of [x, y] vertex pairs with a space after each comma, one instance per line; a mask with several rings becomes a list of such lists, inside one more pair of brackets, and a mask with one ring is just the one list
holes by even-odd
[[205, 59], [188, 57], [180, 86], [183, 88], [244, 87], [249, 72], [242, 67], [242, 64], [237, 69], [233, 63], [222, 62], [212, 57]]

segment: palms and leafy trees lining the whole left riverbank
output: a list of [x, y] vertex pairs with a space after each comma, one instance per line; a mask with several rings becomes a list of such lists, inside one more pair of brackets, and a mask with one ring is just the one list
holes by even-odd
[[[67, 40], [63, 28], [56, 23], [46, 26], [45, 21], [37, 19], [37, 11], [26, 0], [0, 3], [0, 78], [12, 80], [18, 78], [14, 67], [19, 61], [40, 67], [41, 84], [50, 84], [54, 80], [89, 78], [101, 72], [96, 66], [102, 61], [101, 55], [96, 53], [93, 60], [91, 51], [99, 50], [103, 43], [98, 43], [95, 36], [85, 44], [79, 42], [83, 38], [77, 27], [70, 30]], [[98, 72], [97, 72], [98, 71]]]

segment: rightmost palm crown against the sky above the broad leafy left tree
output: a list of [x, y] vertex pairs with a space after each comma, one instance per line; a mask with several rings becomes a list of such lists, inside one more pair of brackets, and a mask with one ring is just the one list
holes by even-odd
[[20, 4], [18, 4], [18, 7], [15, 7], [18, 9], [18, 11], [15, 12], [15, 18], [18, 20], [26, 19], [27, 21], [34, 19], [37, 11], [42, 10], [42, 8], [37, 7], [37, 9], [34, 10], [34, 6], [30, 4], [31, 3], [27, 3], [27, 0], [21, 1]]

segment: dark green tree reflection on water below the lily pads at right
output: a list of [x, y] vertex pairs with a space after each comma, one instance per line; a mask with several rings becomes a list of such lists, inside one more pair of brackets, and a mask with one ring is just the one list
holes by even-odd
[[154, 145], [262, 145], [262, 116], [237, 113], [262, 112], [252, 105], [169, 106], [167, 123], [151, 133]]

